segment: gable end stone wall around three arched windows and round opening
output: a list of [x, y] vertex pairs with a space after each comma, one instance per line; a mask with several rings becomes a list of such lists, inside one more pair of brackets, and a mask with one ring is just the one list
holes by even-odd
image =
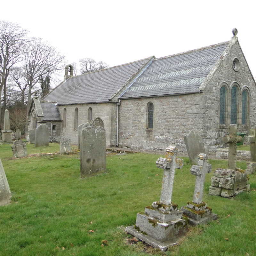
[[[240, 61], [240, 69], [236, 72], [233, 69], [233, 60], [238, 58]], [[214, 151], [216, 148], [224, 147], [222, 143], [222, 137], [228, 132], [228, 124], [230, 124], [230, 99], [231, 99], [231, 87], [234, 83], [237, 83], [240, 87], [240, 94], [238, 97], [238, 123], [237, 132], [247, 133], [250, 128], [254, 128], [256, 125], [256, 87], [249, 71], [249, 68], [241, 52], [239, 44], [236, 42], [230, 52], [224, 57], [222, 64], [216, 70], [211, 81], [208, 83], [204, 90], [204, 128], [202, 130], [202, 137], [208, 150]], [[220, 87], [222, 84], [228, 85], [228, 115], [226, 118], [226, 124], [220, 124]], [[242, 91], [247, 87], [251, 93], [249, 96], [249, 120], [248, 125], [242, 125]], [[245, 136], [246, 140], [247, 136]]]

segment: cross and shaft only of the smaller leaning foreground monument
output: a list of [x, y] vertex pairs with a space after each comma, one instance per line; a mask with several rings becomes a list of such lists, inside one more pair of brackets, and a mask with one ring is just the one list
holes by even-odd
[[193, 164], [190, 169], [190, 173], [196, 175], [195, 190], [193, 196], [193, 202], [196, 204], [202, 203], [204, 195], [204, 179], [205, 174], [210, 172], [210, 164], [207, 164], [207, 155], [200, 153], [198, 155], [197, 165]]

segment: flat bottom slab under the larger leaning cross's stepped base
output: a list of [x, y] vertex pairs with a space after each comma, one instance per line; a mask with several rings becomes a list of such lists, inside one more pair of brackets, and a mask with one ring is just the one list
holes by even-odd
[[160, 249], [163, 252], [166, 251], [169, 247], [174, 246], [179, 243], [179, 238], [175, 238], [175, 239], [165, 241], [165, 242], [159, 242], [156, 239], [154, 239], [153, 237], [142, 234], [140, 231], [135, 229], [135, 225], [126, 227], [125, 231], [129, 234], [132, 234], [133, 236], [136, 236], [141, 241], [144, 241], [145, 243], [153, 246], [154, 248]]

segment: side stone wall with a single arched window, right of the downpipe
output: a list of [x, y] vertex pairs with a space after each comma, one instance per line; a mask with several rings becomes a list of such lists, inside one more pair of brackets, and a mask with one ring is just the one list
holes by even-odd
[[[119, 146], [163, 150], [176, 144], [186, 151], [183, 136], [203, 128], [202, 93], [122, 100], [119, 110]], [[147, 129], [147, 104], [154, 104], [153, 129]]]

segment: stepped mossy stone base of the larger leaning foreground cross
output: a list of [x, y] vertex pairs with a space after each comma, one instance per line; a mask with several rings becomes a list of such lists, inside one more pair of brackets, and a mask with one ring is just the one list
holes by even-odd
[[168, 247], [178, 244], [180, 236], [185, 235], [188, 219], [182, 218], [177, 204], [153, 202], [144, 213], [137, 213], [135, 226], [126, 227], [126, 232], [136, 236], [147, 244], [166, 251]]

